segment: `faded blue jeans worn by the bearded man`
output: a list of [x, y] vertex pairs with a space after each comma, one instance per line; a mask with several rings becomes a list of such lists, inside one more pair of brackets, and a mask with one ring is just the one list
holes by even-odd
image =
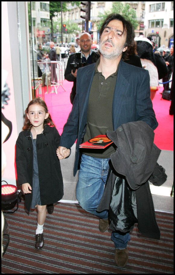
[[[104, 220], [108, 218], [109, 212], [107, 210], [97, 212], [96, 210], [103, 196], [109, 171], [109, 160], [110, 158], [100, 159], [83, 154], [76, 186], [76, 198], [80, 206]], [[111, 240], [116, 248], [124, 249], [130, 241], [129, 232], [113, 231]]]

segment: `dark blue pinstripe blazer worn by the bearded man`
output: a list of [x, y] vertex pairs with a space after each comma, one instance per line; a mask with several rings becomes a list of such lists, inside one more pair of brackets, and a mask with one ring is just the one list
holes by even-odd
[[[95, 73], [95, 64], [79, 68], [77, 89], [72, 111], [63, 128], [60, 146], [72, 147], [77, 139], [74, 175], [78, 170], [79, 144], [87, 123], [88, 98]], [[150, 99], [150, 77], [148, 70], [119, 62], [117, 81], [112, 106], [113, 130], [120, 125], [138, 120], [145, 121], [153, 130], [158, 126]]]

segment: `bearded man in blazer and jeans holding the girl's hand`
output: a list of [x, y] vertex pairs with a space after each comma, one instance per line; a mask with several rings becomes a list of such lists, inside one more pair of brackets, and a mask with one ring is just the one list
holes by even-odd
[[[79, 169], [76, 198], [80, 206], [99, 217], [99, 230], [109, 226], [109, 211], [97, 211], [112, 165], [110, 156], [116, 151], [112, 143], [105, 149], [80, 149], [82, 142], [107, 134], [128, 122], [144, 121], [152, 129], [158, 126], [150, 99], [150, 78], [147, 70], [122, 61], [127, 49], [134, 44], [131, 22], [120, 14], [110, 14], [100, 30], [100, 58], [96, 63], [77, 71], [76, 95], [72, 111], [63, 128], [59, 159], [70, 154], [76, 143], [74, 175]], [[113, 169], [113, 167], [111, 168]], [[111, 171], [111, 170], [110, 170]], [[129, 232], [113, 230], [115, 262], [125, 267], [128, 262]]]

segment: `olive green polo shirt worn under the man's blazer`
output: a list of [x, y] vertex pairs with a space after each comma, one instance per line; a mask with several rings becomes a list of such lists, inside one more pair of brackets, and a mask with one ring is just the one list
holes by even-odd
[[[117, 79], [117, 70], [107, 79], [99, 72], [97, 67], [100, 58], [95, 66], [95, 74], [93, 77], [91, 90], [88, 101], [87, 112], [87, 129], [84, 135], [84, 140], [88, 141], [99, 134], [106, 134], [108, 131], [114, 131], [112, 122], [112, 104], [113, 94]], [[88, 156], [97, 158], [110, 158], [110, 155], [115, 152], [115, 144], [111, 144], [105, 149], [81, 149]]]

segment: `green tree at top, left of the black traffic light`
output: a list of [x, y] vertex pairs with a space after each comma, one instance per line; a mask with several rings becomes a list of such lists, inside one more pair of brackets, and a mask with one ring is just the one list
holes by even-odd
[[[79, 1], [66, 1], [62, 2], [62, 11], [67, 11], [67, 3], [71, 3], [72, 6], [76, 5], [79, 7], [80, 2]], [[54, 1], [49, 2], [49, 11], [50, 11], [50, 21], [51, 21], [51, 40], [53, 41], [53, 17], [55, 17], [55, 13], [61, 11], [61, 2]], [[64, 22], [64, 24], [66, 24]], [[66, 25], [67, 28], [67, 25]]]

